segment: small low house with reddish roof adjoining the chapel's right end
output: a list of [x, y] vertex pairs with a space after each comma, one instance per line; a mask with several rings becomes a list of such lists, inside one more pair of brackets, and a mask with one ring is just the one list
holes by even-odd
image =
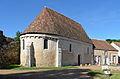
[[118, 51], [111, 46], [107, 41], [92, 39], [95, 46], [94, 49], [94, 64], [110, 65], [118, 63]]

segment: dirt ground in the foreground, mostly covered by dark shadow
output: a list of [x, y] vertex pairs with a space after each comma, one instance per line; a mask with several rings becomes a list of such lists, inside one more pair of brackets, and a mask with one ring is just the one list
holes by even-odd
[[78, 69], [58, 70], [0, 70], [0, 79], [94, 79], [87, 75], [100, 67], [79, 67]]

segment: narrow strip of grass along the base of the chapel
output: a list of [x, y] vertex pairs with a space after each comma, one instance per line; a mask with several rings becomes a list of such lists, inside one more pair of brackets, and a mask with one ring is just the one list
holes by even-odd
[[71, 69], [77, 68], [75, 66], [64, 66], [64, 67], [21, 67], [19, 65], [4, 66], [0, 69], [19, 69], [19, 70], [33, 70], [33, 69]]

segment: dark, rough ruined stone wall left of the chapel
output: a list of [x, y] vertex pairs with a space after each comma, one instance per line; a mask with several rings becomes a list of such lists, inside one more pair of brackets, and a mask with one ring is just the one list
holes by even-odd
[[19, 43], [0, 31], [0, 66], [19, 64]]

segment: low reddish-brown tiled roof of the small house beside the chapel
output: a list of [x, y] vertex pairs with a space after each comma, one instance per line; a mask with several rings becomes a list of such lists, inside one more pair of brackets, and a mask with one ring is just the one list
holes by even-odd
[[114, 47], [112, 47], [107, 41], [104, 40], [97, 40], [97, 39], [92, 39], [92, 42], [95, 46], [95, 49], [102, 49], [102, 50], [115, 50], [117, 51]]

